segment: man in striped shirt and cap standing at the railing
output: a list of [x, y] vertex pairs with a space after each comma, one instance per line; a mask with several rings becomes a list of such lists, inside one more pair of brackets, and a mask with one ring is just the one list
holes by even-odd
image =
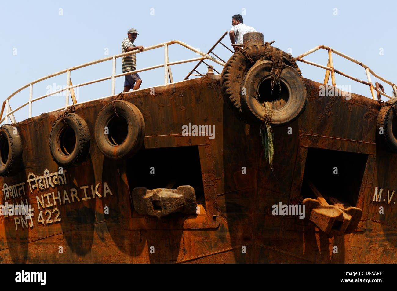
[[[140, 50], [143, 51], [144, 47], [143, 46], [135, 46], [134, 40], [137, 38], [138, 31], [136, 29], [131, 28], [128, 31], [128, 34], [125, 39], [123, 39], [123, 42], [121, 43], [121, 52], [129, 52], [131, 50]], [[136, 54], [130, 54], [128, 56], [124, 56], [122, 58], [122, 63], [123, 63], [123, 73], [129, 72], [129, 71], [134, 71], [137, 69], [137, 55]], [[135, 86], [134, 86], [135, 84]], [[139, 77], [138, 73], [131, 74], [131, 75], [125, 75], [124, 76], [124, 91], [123, 92], [128, 92], [133, 88], [133, 90], [138, 90], [139, 87], [141, 87], [142, 84], [142, 79]]]

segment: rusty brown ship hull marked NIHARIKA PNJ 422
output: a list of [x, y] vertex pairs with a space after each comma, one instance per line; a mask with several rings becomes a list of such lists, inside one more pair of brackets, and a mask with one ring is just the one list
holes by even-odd
[[[220, 75], [156, 87], [155, 94], [150, 89], [126, 93], [124, 100], [139, 108], [146, 127], [142, 149], [126, 160], [105, 157], [93, 138], [96, 117], [112, 98], [77, 106], [91, 145], [84, 162], [64, 169], [62, 185], [47, 181], [48, 187], [31, 189], [28, 177], [58, 171], [49, 138], [60, 113], [14, 124], [23, 144], [23, 169], [1, 177], [0, 184], [25, 182], [24, 191], [10, 199], [3, 193], [1, 202], [31, 204], [33, 217], [1, 216], [0, 261], [396, 262], [391, 195], [397, 189], [397, 156], [376, 143], [380, 104], [357, 94], [350, 100], [319, 96], [320, 83], [304, 79], [304, 84], [307, 104], [301, 116], [273, 127], [273, 170], [264, 156], [260, 126], [238, 120], [227, 107]], [[214, 138], [183, 135], [189, 123], [215, 125]], [[338, 175], [332, 173], [335, 164]], [[272, 205], [299, 204], [308, 197], [304, 176], [362, 209], [353, 233], [329, 238], [296, 216], [272, 215]], [[172, 180], [174, 188], [195, 188], [198, 214], [158, 219], [137, 213], [134, 188], [164, 188]], [[384, 190], [374, 201], [376, 189]]]

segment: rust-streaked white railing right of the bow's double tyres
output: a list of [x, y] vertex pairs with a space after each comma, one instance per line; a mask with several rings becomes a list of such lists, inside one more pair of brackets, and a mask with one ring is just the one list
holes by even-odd
[[[324, 48], [324, 50], [328, 50], [328, 64], [327, 64], [327, 66], [316, 64], [316, 63], [310, 62], [308, 60], [303, 60], [303, 57], [311, 54], [312, 52], [315, 52], [316, 50], [319, 50], [320, 48]], [[350, 75], [347, 75], [347, 74], [335, 69], [333, 67], [332, 52], [334, 52], [338, 56], [341, 56], [341, 57], [343, 57], [343, 58], [345, 58], [347, 60], [350, 60], [350, 61], [352, 61], [352, 62], [364, 67], [368, 82], [360, 80], [360, 79], [357, 79], [355, 77], [352, 77]], [[374, 100], [377, 100], [375, 91], [378, 92], [379, 94], [382, 94], [383, 96], [385, 96], [385, 97], [387, 97], [389, 99], [392, 98], [391, 96], [389, 96], [386, 93], [382, 92], [380, 89], [374, 87], [374, 85], [372, 84], [371, 75], [370, 75], [370, 74], [372, 74], [374, 77], [376, 77], [376, 78], [384, 81], [385, 83], [389, 84], [393, 88], [394, 95], [397, 96], [397, 88], [396, 88], [396, 85], [394, 83], [392, 83], [392, 82], [386, 80], [385, 78], [381, 77], [380, 75], [374, 73], [374, 71], [372, 71], [368, 66], [364, 65], [362, 62], [360, 62], [360, 61], [358, 61], [358, 60], [356, 60], [354, 58], [351, 58], [351, 57], [349, 57], [346, 54], [338, 52], [337, 50], [334, 50], [333, 48], [330, 48], [328, 46], [316, 46], [315, 48], [312, 48], [311, 50], [308, 50], [307, 52], [301, 54], [300, 56], [297, 56], [295, 58], [295, 60], [300, 61], [300, 62], [304, 62], [304, 63], [309, 64], [309, 65], [313, 65], [313, 66], [316, 66], [316, 67], [320, 67], [320, 68], [326, 69], [326, 74], [325, 74], [325, 78], [324, 78], [324, 85], [328, 84], [328, 80], [330, 79], [330, 73], [331, 73], [332, 86], [335, 87], [336, 86], [335, 73], [338, 73], [339, 75], [345, 76], [345, 77], [347, 77], [349, 79], [352, 79], [354, 81], [357, 81], [359, 83], [368, 85], [370, 87], [371, 95], [372, 95], [372, 98]]]

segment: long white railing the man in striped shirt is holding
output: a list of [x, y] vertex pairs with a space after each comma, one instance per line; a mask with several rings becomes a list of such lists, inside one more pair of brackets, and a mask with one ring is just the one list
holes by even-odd
[[[188, 59], [188, 60], [181, 60], [181, 61], [176, 61], [176, 62], [169, 62], [169, 60], [168, 60], [168, 46], [171, 45], [171, 44], [180, 44], [181, 46], [184, 46], [185, 48], [188, 48], [189, 50], [192, 50], [193, 52], [196, 52], [197, 54], [200, 54], [201, 57]], [[129, 75], [129, 74], [132, 74], [132, 73], [138, 73], [138, 72], [142, 72], [142, 71], [148, 71], [148, 70], [151, 70], [151, 69], [157, 69], [157, 68], [160, 68], [160, 67], [164, 67], [164, 85], [167, 85], [168, 84], [168, 74], [169, 73], [170, 73], [170, 81], [173, 83], [172, 75], [171, 75], [171, 72], [169, 70], [169, 66], [172, 66], [172, 65], [183, 64], [183, 63], [187, 63], [187, 62], [195, 62], [195, 61], [208, 59], [208, 60], [211, 60], [211, 61], [213, 61], [213, 62], [215, 62], [215, 63], [217, 63], [217, 64], [219, 64], [221, 66], [225, 66], [224, 62], [222, 62], [222, 61], [220, 61], [220, 60], [218, 60], [218, 59], [216, 59], [216, 58], [214, 58], [212, 56], [209, 56], [208, 54], [198, 50], [197, 48], [194, 48], [193, 46], [189, 46], [188, 44], [186, 44], [184, 42], [181, 42], [179, 40], [171, 40], [171, 41], [163, 42], [163, 43], [156, 44], [156, 45], [153, 45], [153, 46], [148, 46], [142, 52], [145, 52], [147, 50], [152, 50], [154, 48], [160, 48], [162, 46], [164, 46], [164, 64], [151, 66], [151, 67], [146, 67], [146, 68], [143, 68], [143, 69], [137, 69], [137, 70], [134, 70], [134, 71], [129, 71], [129, 72], [126, 72], [126, 73], [121, 73], [121, 74], [117, 74], [116, 75], [116, 59], [117, 58], [121, 58], [123, 56], [128, 56], [130, 54], [136, 54], [136, 53], [141, 52], [139, 50], [132, 50], [130, 52], [125, 52], [125, 53], [122, 53], [122, 54], [116, 54], [114, 56], [109, 56], [109, 57], [106, 57], [106, 58], [102, 58], [102, 59], [99, 59], [99, 60], [95, 60], [95, 61], [92, 61], [92, 62], [81, 64], [79, 66], [71, 67], [69, 69], [64, 69], [62, 71], [59, 71], [59, 72], [56, 72], [56, 73], [53, 73], [53, 74], [50, 74], [50, 75], [46, 75], [46, 76], [44, 76], [44, 77], [42, 77], [40, 79], [32, 81], [32, 82], [26, 84], [25, 86], [22, 86], [21, 88], [19, 88], [17, 91], [13, 92], [10, 96], [7, 97], [6, 100], [4, 100], [3, 105], [2, 105], [2, 109], [1, 109], [1, 113], [0, 113], [0, 119], [1, 119], [0, 123], [2, 123], [5, 119], [7, 119], [7, 123], [8, 123], [8, 118], [11, 119], [12, 123], [15, 123], [16, 121], [15, 121], [15, 118], [13, 116], [13, 113], [18, 111], [18, 110], [20, 110], [21, 108], [23, 108], [23, 107], [25, 107], [27, 105], [29, 105], [29, 118], [31, 118], [32, 117], [32, 103], [33, 102], [35, 102], [37, 100], [40, 100], [42, 98], [46, 98], [48, 96], [52, 96], [54, 94], [58, 94], [58, 93], [63, 92], [63, 91], [66, 90], [65, 106], [63, 106], [61, 108], [58, 108], [56, 110], [52, 110], [51, 112], [64, 110], [64, 109], [66, 109], [67, 107], [70, 106], [69, 105], [69, 91], [73, 90], [73, 88], [75, 88], [75, 87], [82, 87], [82, 86], [85, 86], [85, 85], [90, 85], [90, 84], [93, 84], [93, 83], [97, 83], [97, 82], [101, 82], [101, 81], [106, 81], [106, 80], [112, 79], [112, 91], [111, 91], [111, 95], [110, 96], [113, 96], [115, 94], [115, 85], [116, 85], [116, 78], [117, 77], [122, 77], [122, 76]], [[90, 65], [93, 65], [93, 64], [98, 64], [100, 62], [105, 62], [105, 61], [108, 61], [108, 60], [112, 60], [112, 62], [113, 62], [112, 75], [111, 76], [104, 77], [104, 78], [101, 78], [101, 79], [96, 79], [94, 81], [89, 81], [89, 82], [77, 84], [77, 85], [72, 85], [71, 84], [71, 81], [70, 81], [70, 73], [71, 73], [71, 71], [80, 69], [82, 67], [87, 67], [87, 66], [90, 66]], [[40, 97], [37, 97], [37, 98], [33, 99], [33, 85], [34, 84], [39, 83], [40, 81], [46, 80], [46, 79], [51, 78], [51, 77], [54, 77], [54, 76], [57, 76], [57, 75], [61, 75], [63, 73], [66, 73], [66, 75], [67, 75], [67, 77], [66, 77], [66, 87], [65, 88], [57, 90], [57, 91], [54, 91], [54, 92], [49, 93], [49, 94], [42, 95]], [[29, 87], [29, 101], [25, 102], [24, 104], [22, 104], [18, 108], [14, 109], [14, 110], [11, 110], [10, 99], [15, 94], [17, 94], [18, 92], [22, 91], [23, 89], [25, 89], [27, 87]], [[105, 97], [101, 97], [101, 98], [97, 98], [97, 99], [93, 99], [93, 100], [98, 100], [98, 99], [102, 99], [102, 98], [106, 98], [106, 97], [109, 97], [109, 96], [105, 96]], [[88, 100], [88, 101], [79, 102], [79, 103], [76, 102], [75, 104], [81, 104], [81, 103], [85, 103], [85, 102], [89, 102], [89, 101], [93, 101], [93, 100]], [[73, 103], [74, 102], [75, 102], [75, 100], [73, 100]], [[4, 108], [6, 109], [6, 115], [3, 117]]]

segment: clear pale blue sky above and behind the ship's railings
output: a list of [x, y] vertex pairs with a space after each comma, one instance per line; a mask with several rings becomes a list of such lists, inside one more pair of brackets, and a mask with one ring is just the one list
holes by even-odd
[[[136, 45], [150, 46], [181, 40], [207, 52], [231, 28], [231, 16], [243, 14], [244, 23], [264, 34], [265, 41], [290, 50], [293, 56], [324, 44], [372, 68], [386, 79], [397, 82], [395, 29], [396, 2], [392, 1], [2, 1], [0, 2], [0, 86], [1, 101], [19, 87], [62, 69], [121, 52], [121, 41], [131, 27], [138, 30]], [[335, 10], [336, 9], [336, 10]], [[336, 12], [336, 13], [335, 13]], [[154, 15], [153, 15], [154, 14]], [[337, 15], [335, 15], [337, 14]], [[230, 45], [228, 35], [224, 44]], [[105, 53], [108, 51], [108, 55]], [[223, 46], [214, 52], [227, 60], [231, 53]], [[197, 55], [173, 44], [170, 61]], [[328, 55], [319, 50], [306, 59], [327, 64]], [[137, 54], [137, 67], [164, 62], [158, 48]], [[324, 81], [325, 71], [298, 62], [303, 77]], [[172, 66], [174, 81], [181, 81], [195, 63]], [[362, 67], [334, 56], [336, 69], [366, 80]], [[215, 66], [219, 68], [219, 66]], [[200, 72], [205, 72], [202, 66]], [[219, 71], [219, 69], [218, 69]], [[112, 62], [71, 72], [73, 84], [111, 75]], [[121, 73], [117, 60], [116, 73]], [[139, 73], [141, 88], [161, 85], [164, 69]], [[373, 83], [377, 81], [372, 79]], [[116, 93], [123, 90], [124, 77], [116, 79]], [[384, 82], [381, 82], [384, 84]], [[55, 86], [54, 86], [55, 84]], [[369, 87], [336, 74], [336, 84], [351, 86], [353, 93], [371, 97]], [[33, 98], [48, 88], [66, 85], [66, 74], [33, 86]], [[385, 84], [384, 84], [385, 85]], [[55, 88], [56, 89], [56, 88]], [[385, 85], [391, 94], [391, 87]], [[111, 81], [79, 89], [78, 102], [108, 96]], [[64, 105], [63, 96], [33, 103], [33, 116]], [[11, 99], [12, 108], [29, 100], [29, 89]], [[71, 100], [69, 101], [71, 104]], [[27, 118], [28, 107], [15, 113], [17, 121]]]

